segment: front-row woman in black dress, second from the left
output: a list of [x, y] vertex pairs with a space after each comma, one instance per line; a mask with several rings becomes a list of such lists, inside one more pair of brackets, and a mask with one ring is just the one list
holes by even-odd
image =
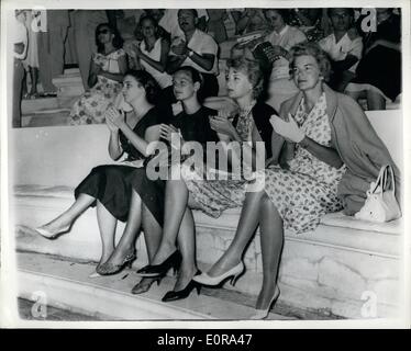
[[[174, 116], [167, 124], [160, 125], [160, 136], [163, 139], [170, 141], [173, 133], [179, 133], [185, 141], [198, 141], [204, 145], [207, 141], [216, 141], [218, 136], [211, 129], [209, 116], [215, 115], [216, 111], [208, 109], [199, 102], [198, 92], [201, 89], [201, 76], [192, 67], [180, 67], [173, 75], [174, 94], [177, 104], [174, 105]], [[173, 161], [173, 158], [171, 160]], [[168, 174], [168, 162], [166, 177]], [[149, 177], [151, 171], [159, 165], [153, 158], [147, 162], [146, 168], [136, 169], [132, 177], [132, 200], [130, 205], [130, 216], [134, 218], [127, 220], [122, 239], [134, 236], [134, 228], [142, 224], [144, 228], [144, 238], [148, 252], [148, 260], [152, 261], [156, 253], [163, 234], [164, 218], [164, 196], [165, 179], [153, 179]], [[162, 165], [159, 165], [162, 167]], [[141, 210], [142, 208], [142, 210]], [[142, 218], [134, 214], [142, 212]], [[141, 280], [132, 290], [133, 294], [146, 292], [154, 281], [159, 283], [160, 278], [145, 278]]]

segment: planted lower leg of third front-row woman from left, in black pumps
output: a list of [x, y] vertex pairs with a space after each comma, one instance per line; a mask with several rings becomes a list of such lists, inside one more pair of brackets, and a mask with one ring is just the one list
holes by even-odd
[[192, 218], [191, 210], [188, 207], [186, 207], [181, 220], [177, 241], [182, 261], [174, 286], [176, 292], [184, 290], [197, 273], [195, 219]]

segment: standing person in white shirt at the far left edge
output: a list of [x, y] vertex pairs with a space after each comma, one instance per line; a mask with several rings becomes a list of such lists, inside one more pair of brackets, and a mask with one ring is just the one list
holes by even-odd
[[21, 98], [24, 78], [24, 67], [22, 60], [27, 54], [29, 34], [25, 25], [25, 13], [23, 10], [16, 10], [12, 19], [11, 44], [13, 46], [13, 111], [12, 126], [21, 127]]

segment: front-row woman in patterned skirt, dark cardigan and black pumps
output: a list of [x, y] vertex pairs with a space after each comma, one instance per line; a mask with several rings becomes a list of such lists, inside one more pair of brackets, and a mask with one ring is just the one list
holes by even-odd
[[[271, 154], [273, 127], [269, 117], [275, 110], [256, 100], [263, 90], [260, 67], [257, 61], [242, 57], [229, 60], [227, 68], [227, 92], [230, 98], [237, 103], [240, 113], [233, 122], [221, 114], [213, 116], [211, 127], [218, 132], [224, 155], [229, 154], [229, 143], [237, 141], [237, 145], [243, 147], [243, 159], [248, 160], [246, 167], [259, 158], [263, 160], [262, 167], [264, 168], [264, 156]], [[265, 141], [265, 149], [263, 147], [263, 152], [257, 154], [256, 148], [247, 141]], [[232, 152], [231, 165], [234, 165], [235, 158], [241, 158], [237, 151]], [[203, 165], [202, 159], [199, 163]], [[221, 168], [222, 165], [219, 166]], [[199, 208], [212, 217], [219, 217], [226, 208], [242, 206], [247, 185], [252, 183], [251, 178], [245, 177], [245, 172], [236, 173], [240, 176], [237, 178], [231, 172], [229, 179], [214, 178], [215, 180], [212, 180], [212, 170], [208, 166], [192, 169], [184, 163], [178, 167], [181, 179], [168, 180], [166, 185], [165, 220], [160, 246], [151, 265], [137, 272], [143, 276], [165, 274], [170, 265], [182, 257], [175, 287], [163, 297], [164, 302], [185, 298], [196, 287], [192, 278], [199, 272], [196, 265], [195, 223], [191, 210], [187, 205], [190, 204], [191, 208]]]

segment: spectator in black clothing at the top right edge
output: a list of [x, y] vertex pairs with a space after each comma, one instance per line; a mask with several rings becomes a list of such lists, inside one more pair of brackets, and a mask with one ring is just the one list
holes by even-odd
[[401, 18], [392, 11], [377, 9], [377, 31], [363, 33], [365, 52], [357, 77], [345, 89], [356, 100], [367, 99], [368, 110], [386, 110], [386, 102], [401, 92]]

